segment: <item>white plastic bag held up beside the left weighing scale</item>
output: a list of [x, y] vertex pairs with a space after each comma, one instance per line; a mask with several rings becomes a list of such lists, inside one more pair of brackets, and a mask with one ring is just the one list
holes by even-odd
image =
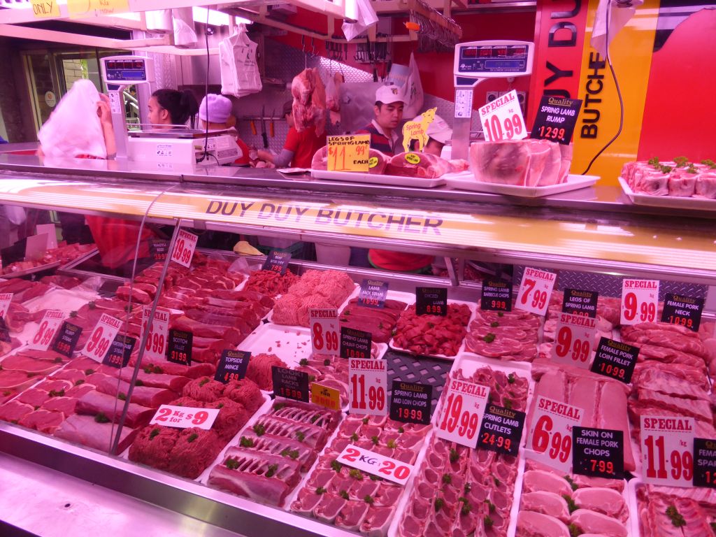
[[49, 158], [107, 158], [105, 135], [97, 116], [99, 101], [95, 84], [84, 79], [74, 82], [37, 133], [42, 153]]

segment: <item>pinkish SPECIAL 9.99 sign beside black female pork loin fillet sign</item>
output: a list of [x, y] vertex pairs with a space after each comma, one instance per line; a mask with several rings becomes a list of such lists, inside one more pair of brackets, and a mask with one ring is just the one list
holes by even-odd
[[552, 361], [588, 369], [592, 342], [596, 337], [596, 320], [584, 315], [559, 314], [556, 334]]

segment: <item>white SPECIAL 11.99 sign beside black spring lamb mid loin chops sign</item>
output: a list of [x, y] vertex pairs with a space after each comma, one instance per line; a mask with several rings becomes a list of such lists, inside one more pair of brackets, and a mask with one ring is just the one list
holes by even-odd
[[348, 404], [350, 412], [384, 416], [387, 405], [388, 372], [385, 360], [352, 358], [348, 361]]

